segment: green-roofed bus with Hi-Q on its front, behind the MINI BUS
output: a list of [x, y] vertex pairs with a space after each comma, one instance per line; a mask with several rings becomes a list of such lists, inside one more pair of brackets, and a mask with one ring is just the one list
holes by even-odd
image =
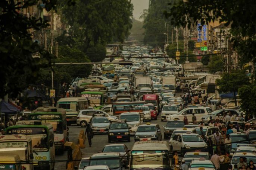
[[53, 126], [41, 121], [19, 121], [6, 128], [8, 135], [27, 135], [32, 138], [34, 169], [54, 169], [55, 147]]

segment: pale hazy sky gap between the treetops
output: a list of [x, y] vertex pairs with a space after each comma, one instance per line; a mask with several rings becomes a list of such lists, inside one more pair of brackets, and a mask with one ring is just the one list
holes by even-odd
[[133, 4], [133, 17], [139, 20], [143, 9], [149, 8], [149, 0], [132, 0]]

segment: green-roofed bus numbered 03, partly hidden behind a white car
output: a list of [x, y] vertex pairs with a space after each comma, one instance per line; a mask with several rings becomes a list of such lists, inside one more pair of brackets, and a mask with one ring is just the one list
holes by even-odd
[[[107, 91], [96, 91], [97, 89], [87, 89], [81, 93], [81, 97], [87, 98], [90, 101], [90, 106], [94, 109], [101, 109], [107, 101]], [[98, 89], [100, 90], [100, 89]]]

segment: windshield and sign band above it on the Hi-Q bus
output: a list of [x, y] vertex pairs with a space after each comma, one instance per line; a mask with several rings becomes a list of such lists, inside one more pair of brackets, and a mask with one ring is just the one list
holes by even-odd
[[28, 135], [32, 138], [32, 148], [33, 152], [47, 152], [48, 137], [46, 128], [36, 128], [36, 127], [24, 127], [24, 128], [13, 128], [7, 131], [7, 134], [11, 135]]

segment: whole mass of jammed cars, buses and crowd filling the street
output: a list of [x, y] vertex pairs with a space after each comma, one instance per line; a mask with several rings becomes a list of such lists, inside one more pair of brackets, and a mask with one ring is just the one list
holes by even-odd
[[[94, 64], [56, 107], [26, 112], [2, 130], [0, 169], [256, 169], [256, 118], [212, 88], [219, 75], [191, 71], [161, 50], [121, 53]], [[85, 146], [77, 150], [80, 131]]]

